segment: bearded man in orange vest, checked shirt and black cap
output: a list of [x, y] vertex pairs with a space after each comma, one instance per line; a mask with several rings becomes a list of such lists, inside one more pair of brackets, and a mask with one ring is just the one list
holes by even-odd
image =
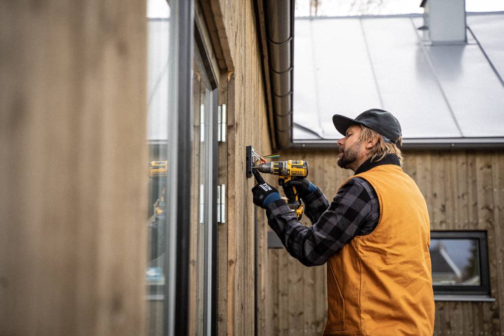
[[328, 317], [324, 335], [432, 335], [434, 302], [427, 206], [401, 169], [397, 119], [373, 108], [355, 119], [333, 116], [344, 135], [338, 165], [355, 175], [331, 204], [306, 179], [296, 188], [312, 227], [296, 220], [259, 172], [254, 203], [286, 250], [306, 266], [327, 263]]

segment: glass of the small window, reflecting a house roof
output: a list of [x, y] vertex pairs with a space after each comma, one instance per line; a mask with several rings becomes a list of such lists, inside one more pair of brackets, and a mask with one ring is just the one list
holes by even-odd
[[481, 286], [477, 239], [431, 239], [432, 285]]

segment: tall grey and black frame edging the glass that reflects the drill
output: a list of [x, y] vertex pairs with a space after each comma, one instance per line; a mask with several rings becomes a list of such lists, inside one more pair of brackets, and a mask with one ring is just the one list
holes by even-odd
[[[191, 71], [193, 62], [194, 0], [170, 0], [169, 76], [168, 87], [168, 161], [170, 170], [166, 191], [176, 195], [167, 204], [167, 257], [164, 286], [163, 335], [188, 333], [189, 327], [189, 241], [191, 172]], [[170, 125], [176, 125], [171, 127]], [[180, 225], [175, 225], [180, 223]]]

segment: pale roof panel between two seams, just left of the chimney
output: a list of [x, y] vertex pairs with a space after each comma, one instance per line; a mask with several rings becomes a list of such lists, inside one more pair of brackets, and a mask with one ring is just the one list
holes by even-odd
[[403, 136], [460, 137], [411, 19], [363, 23], [384, 108], [399, 120]]

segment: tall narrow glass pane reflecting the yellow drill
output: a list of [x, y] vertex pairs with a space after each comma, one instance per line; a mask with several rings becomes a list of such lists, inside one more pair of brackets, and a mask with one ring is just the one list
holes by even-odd
[[147, 2], [147, 145], [149, 147], [149, 186], [146, 221], [148, 250], [147, 269], [147, 333], [163, 334], [165, 301], [164, 269], [166, 243], [166, 186], [169, 162], [168, 149], [168, 55], [170, 47], [170, 8], [165, 0]]

